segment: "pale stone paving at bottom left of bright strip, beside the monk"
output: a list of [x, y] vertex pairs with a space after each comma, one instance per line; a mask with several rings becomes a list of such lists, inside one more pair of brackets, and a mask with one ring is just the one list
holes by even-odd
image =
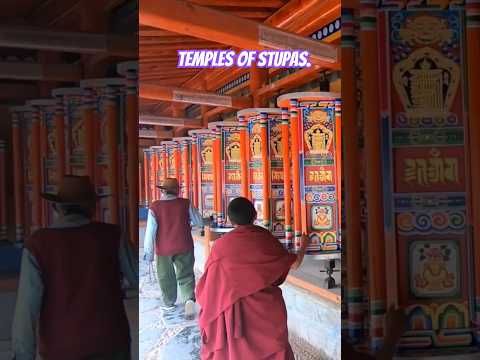
[[[143, 249], [140, 249], [140, 254], [143, 254]], [[160, 309], [160, 288], [153, 269], [150, 272], [148, 264], [142, 259], [139, 303], [140, 360], [200, 359], [197, 320], [186, 321], [182, 306], [168, 313]]]

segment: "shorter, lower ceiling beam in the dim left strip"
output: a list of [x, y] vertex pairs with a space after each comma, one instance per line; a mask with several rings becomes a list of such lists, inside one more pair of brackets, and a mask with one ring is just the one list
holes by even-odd
[[0, 62], [0, 79], [35, 81], [80, 81], [79, 65]]

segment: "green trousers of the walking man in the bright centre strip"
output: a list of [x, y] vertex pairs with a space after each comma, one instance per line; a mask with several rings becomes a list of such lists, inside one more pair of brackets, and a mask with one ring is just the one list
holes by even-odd
[[180, 288], [180, 302], [195, 299], [195, 274], [193, 250], [173, 255], [157, 257], [157, 274], [165, 305], [177, 302], [177, 284]]

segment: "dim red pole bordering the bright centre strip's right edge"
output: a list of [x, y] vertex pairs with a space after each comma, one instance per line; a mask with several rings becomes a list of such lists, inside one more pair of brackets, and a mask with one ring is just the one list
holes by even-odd
[[[357, 79], [353, 11], [342, 12], [342, 129], [344, 138], [344, 188], [346, 219], [346, 298], [348, 334], [356, 340], [362, 328], [362, 243], [360, 225], [360, 137], [357, 119]], [[340, 183], [339, 183], [340, 184]]]

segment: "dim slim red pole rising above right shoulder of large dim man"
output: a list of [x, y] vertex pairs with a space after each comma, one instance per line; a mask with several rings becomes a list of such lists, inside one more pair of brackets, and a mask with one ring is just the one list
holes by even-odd
[[[118, 159], [118, 108], [117, 108], [117, 90], [114, 87], [107, 87], [107, 99], [105, 102], [105, 116], [107, 126], [107, 156], [108, 156], [108, 186], [110, 187], [110, 196], [108, 198], [110, 206], [110, 221], [113, 224], [119, 224], [119, 159]], [[136, 171], [135, 171], [136, 173]], [[135, 205], [136, 208], [136, 205]]]

